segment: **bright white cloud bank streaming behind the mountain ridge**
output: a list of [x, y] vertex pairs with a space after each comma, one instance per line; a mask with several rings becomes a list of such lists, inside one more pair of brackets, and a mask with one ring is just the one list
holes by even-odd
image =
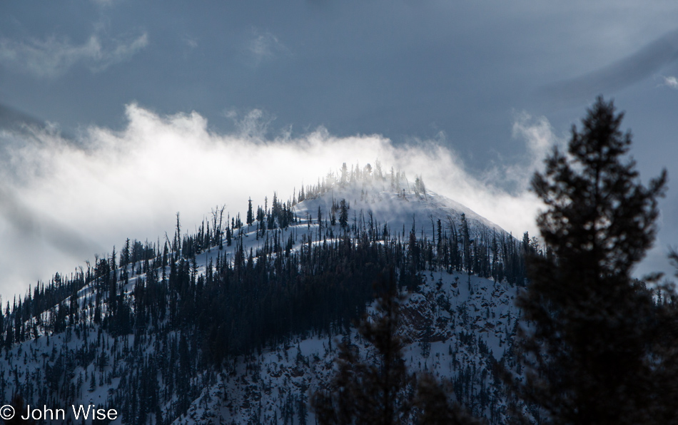
[[[536, 234], [539, 201], [527, 190], [535, 168], [559, 140], [545, 118], [517, 116], [514, 137], [527, 146], [521, 163], [471, 175], [436, 140], [395, 145], [380, 135], [335, 137], [325, 128], [266, 137], [266, 121], [251, 111], [238, 133], [218, 134], [199, 113], [159, 116], [131, 104], [126, 128], [92, 126], [79, 143], [51, 130], [4, 131], [0, 183], [0, 294], [23, 295], [54, 272], [70, 273], [126, 237], [156, 241], [173, 232], [176, 212], [193, 232], [217, 205], [244, 213], [248, 198], [263, 205], [273, 192], [287, 200], [349, 167], [379, 160], [520, 237]], [[507, 129], [509, 131], [510, 129]], [[444, 137], [444, 135], [441, 135]], [[507, 189], [507, 188], [510, 188]]]

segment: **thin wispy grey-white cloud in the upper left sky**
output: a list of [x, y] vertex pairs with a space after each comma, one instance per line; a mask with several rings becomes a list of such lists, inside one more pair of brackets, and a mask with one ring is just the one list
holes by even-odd
[[82, 44], [56, 36], [44, 40], [14, 41], [0, 39], [0, 64], [16, 71], [29, 72], [38, 78], [57, 78], [76, 65], [87, 66], [92, 72], [128, 61], [148, 46], [148, 34], [119, 41], [102, 39], [93, 34]]

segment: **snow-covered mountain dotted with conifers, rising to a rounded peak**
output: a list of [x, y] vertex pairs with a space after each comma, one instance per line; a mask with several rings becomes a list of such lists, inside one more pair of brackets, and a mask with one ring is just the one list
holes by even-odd
[[373, 312], [370, 282], [395, 270], [408, 367], [502, 423], [495, 364], [512, 365], [523, 242], [369, 165], [268, 204], [216, 212], [195, 234], [178, 220], [173, 240], [128, 241], [8, 304], [0, 399], [116, 409], [94, 423], [308, 423], [338, 342], [369, 357], [351, 319]]

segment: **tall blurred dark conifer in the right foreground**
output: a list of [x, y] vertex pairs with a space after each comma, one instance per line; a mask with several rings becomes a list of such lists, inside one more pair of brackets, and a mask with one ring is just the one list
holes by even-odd
[[572, 128], [567, 154], [554, 150], [532, 180], [547, 205], [537, 225], [550, 254], [527, 262], [530, 285], [518, 301], [525, 381], [516, 393], [546, 423], [678, 419], [666, 396], [675, 385], [662, 377], [672, 306], [631, 276], [654, 241], [666, 172], [642, 185], [622, 116], [598, 98]]

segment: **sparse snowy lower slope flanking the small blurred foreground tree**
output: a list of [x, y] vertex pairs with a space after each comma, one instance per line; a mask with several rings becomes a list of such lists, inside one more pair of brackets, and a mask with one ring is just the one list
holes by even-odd
[[[430, 372], [457, 388], [472, 371], [470, 389], [459, 391], [460, 398], [487, 399], [474, 413], [493, 417], [495, 423], [502, 423], [506, 406], [493, 385], [492, 364], [506, 357], [510, 347], [518, 314], [516, 290], [480, 277], [471, 276], [469, 285], [467, 275], [432, 272], [402, 308], [401, 333], [410, 340], [404, 353], [408, 369]], [[304, 414], [308, 424], [315, 423], [313, 412], [300, 409], [299, 403], [330, 380], [345, 337], [298, 335], [262, 354], [238, 358], [173, 424], [299, 424]], [[348, 338], [368, 358], [370, 346], [355, 329]]]

